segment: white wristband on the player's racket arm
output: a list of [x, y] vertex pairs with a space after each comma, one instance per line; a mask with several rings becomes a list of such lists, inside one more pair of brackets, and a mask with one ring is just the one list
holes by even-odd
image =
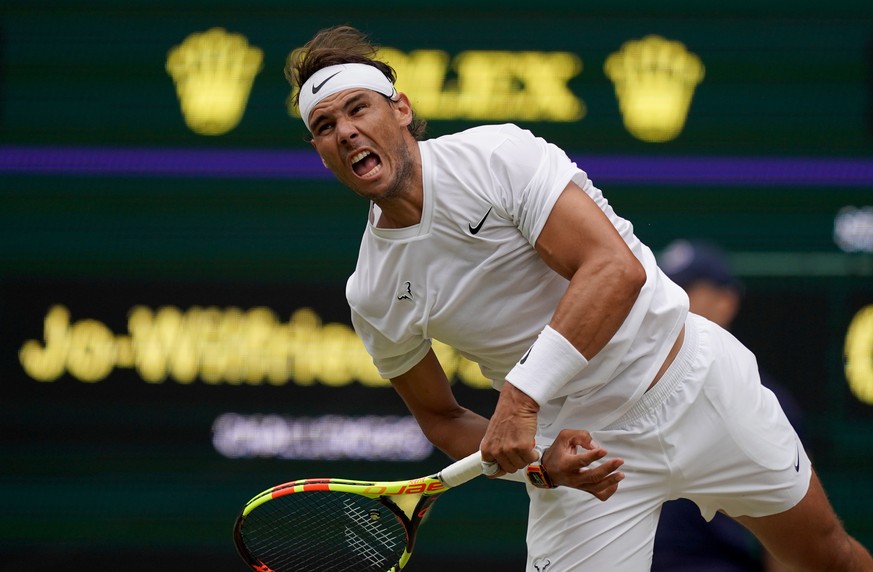
[[546, 326], [506, 381], [544, 405], [568, 381], [585, 369], [588, 360], [567, 338]]

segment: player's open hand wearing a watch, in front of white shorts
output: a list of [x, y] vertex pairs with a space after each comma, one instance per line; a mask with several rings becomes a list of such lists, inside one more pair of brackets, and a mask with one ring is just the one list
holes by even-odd
[[606, 449], [598, 446], [588, 431], [564, 429], [546, 449], [541, 463], [556, 485], [586, 491], [605, 501], [615, 494], [618, 483], [624, 479], [624, 473], [618, 472], [624, 464], [622, 459], [609, 459], [590, 467], [606, 455]]

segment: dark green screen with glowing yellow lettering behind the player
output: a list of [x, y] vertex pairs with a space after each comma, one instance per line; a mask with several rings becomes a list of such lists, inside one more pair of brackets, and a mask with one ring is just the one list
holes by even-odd
[[[351, 328], [367, 205], [288, 106], [287, 57], [340, 23], [428, 137], [517, 123], [656, 253], [723, 246], [734, 333], [873, 546], [873, 8], [413, 4], [4, 4], [0, 570], [243, 570], [231, 526], [262, 490], [446, 463]], [[488, 415], [476, 364], [435, 349]], [[517, 483], [471, 482], [409, 569], [523, 570], [526, 518]]]

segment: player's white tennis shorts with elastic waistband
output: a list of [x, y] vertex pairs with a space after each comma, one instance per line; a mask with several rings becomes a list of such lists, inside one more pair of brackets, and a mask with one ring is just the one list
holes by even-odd
[[528, 487], [528, 572], [649, 570], [665, 501], [691, 499], [707, 520], [716, 511], [777, 514], [801, 501], [812, 474], [754, 355], [693, 314], [661, 380], [592, 435], [607, 458], [624, 459], [625, 479], [605, 502], [566, 487]]

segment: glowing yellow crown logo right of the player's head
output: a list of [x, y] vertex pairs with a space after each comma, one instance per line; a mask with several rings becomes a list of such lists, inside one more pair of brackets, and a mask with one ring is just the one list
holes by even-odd
[[625, 42], [603, 66], [615, 85], [624, 125], [643, 141], [675, 139], [685, 126], [704, 68], [695, 54], [660, 36]]

